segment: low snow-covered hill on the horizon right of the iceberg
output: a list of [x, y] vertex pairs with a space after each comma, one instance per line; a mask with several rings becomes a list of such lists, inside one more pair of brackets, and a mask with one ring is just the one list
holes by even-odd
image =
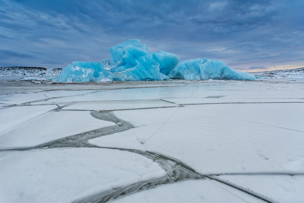
[[304, 78], [304, 68], [252, 72], [251, 74], [268, 78]]

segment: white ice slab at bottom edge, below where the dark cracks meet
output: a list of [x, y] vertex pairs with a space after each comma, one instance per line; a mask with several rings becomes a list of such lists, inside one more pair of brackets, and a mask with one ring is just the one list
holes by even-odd
[[148, 190], [113, 199], [113, 203], [124, 202], [264, 202], [249, 194], [237, 191], [210, 180], [186, 180], [161, 185]]

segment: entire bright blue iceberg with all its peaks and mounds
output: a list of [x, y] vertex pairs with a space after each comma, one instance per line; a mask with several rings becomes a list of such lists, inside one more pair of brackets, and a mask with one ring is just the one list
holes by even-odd
[[250, 73], [236, 71], [224, 62], [194, 59], [179, 62], [172, 53], [149, 52], [137, 39], [110, 48], [111, 60], [100, 62], [74, 61], [63, 68], [54, 82], [84, 83], [136, 80], [255, 80]]

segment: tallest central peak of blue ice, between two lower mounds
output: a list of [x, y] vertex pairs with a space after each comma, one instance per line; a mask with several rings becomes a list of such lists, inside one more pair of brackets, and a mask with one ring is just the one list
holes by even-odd
[[180, 58], [172, 53], [159, 51], [149, 52], [140, 40], [124, 41], [110, 48], [110, 71], [113, 80], [166, 80], [166, 75], [175, 66]]

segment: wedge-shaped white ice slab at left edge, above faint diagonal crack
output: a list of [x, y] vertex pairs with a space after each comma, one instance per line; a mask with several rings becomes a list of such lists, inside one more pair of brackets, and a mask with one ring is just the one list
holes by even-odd
[[0, 133], [22, 122], [57, 108], [56, 105], [12, 106], [0, 109]]

